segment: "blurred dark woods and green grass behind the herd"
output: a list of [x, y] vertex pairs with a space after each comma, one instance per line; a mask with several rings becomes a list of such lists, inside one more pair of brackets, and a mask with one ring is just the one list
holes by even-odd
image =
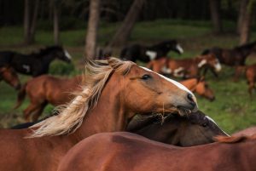
[[[234, 48], [256, 41], [255, 6], [255, 0], [0, 0], [0, 50], [31, 54], [62, 46], [73, 61], [54, 60], [49, 74], [55, 77], [78, 75], [85, 57], [96, 59], [104, 53], [119, 57], [122, 48], [134, 43], [150, 46], [175, 39], [184, 53], [170, 51], [167, 56], [193, 58], [207, 48]], [[255, 52], [246, 60], [247, 65], [254, 63]], [[197, 96], [201, 111], [227, 133], [256, 125], [256, 94], [250, 98], [246, 77], [241, 73], [234, 82], [234, 73], [234, 67], [222, 65], [218, 77], [207, 74], [216, 100]], [[19, 77], [21, 83], [31, 79]], [[13, 109], [17, 92], [0, 83], [2, 128], [25, 122], [22, 111], [29, 100]], [[47, 105], [42, 117], [53, 108]]]

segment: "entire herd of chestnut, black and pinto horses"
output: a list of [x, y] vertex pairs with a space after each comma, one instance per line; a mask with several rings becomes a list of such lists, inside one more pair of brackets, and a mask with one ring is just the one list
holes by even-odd
[[[230, 136], [198, 108], [194, 93], [215, 99], [207, 70], [218, 77], [220, 56], [228, 56], [212, 49], [173, 60], [166, 58], [170, 50], [183, 53], [175, 40], [134, 45], [122, 50], [126, 60], [89, 60], [86, 74], [71, 78], [47, 75], [50, 61], [71, 60], [61, 47], [28, 55], [0, 52], [1, 78], [19, 90], [15, 108], [26, 95], [30, 100], [24, 111], [30, 123], [0, 130], [0, 170], [255, 170], [252, 130]], [[234, 49], [248, 55], [256, 42]], [[244, 64], [235, 66], [246, 68], [255, 88], [256, 72]], [[32, 79], [21, 86], [16, 72]], [[47, 104], [58, 107], [38, 120]]]

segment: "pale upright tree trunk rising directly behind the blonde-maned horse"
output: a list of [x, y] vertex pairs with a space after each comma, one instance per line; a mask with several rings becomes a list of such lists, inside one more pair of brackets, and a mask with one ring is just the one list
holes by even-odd
[[100, 20], [101, 0], [90, 0], [90, 14], [85, 38], [85, 58], [96, 58], [96, 38]]

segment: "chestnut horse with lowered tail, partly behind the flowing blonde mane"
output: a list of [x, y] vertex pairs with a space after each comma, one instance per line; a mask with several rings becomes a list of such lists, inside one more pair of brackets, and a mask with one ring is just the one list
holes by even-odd
[[71, 92], [79, 91], [82, 77], [58, 78], [49, 75], [34, 77], [20, 88], [15, 109], [28, 95], [30, 105], [24, 110], [26, 121], [37, 121], [47, 104], [63, 105], [73, 99]]

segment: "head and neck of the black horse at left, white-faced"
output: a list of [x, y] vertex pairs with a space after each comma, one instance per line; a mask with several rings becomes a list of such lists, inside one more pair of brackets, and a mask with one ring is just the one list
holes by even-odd
[[63, 60], [67, 63], [70, 63], [72, 60], [72, 57], [70, 54], [68, 54], [67, 50], [62, 48], [61, 46], [50, 46], [44, 49], [41, 49], [40, 55], [42, 54], [51, 54], [53, 58], [58, 60]]

